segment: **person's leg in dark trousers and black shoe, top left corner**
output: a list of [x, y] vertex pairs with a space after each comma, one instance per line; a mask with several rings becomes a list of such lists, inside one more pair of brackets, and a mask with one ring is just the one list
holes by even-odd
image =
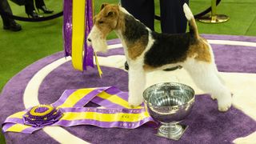
[[14, 19], [8, 18], [5, 14], [12, 14], [12, 11], [10, 9], [10, 5], [7, 2], [7, 0], [1, 0], [0, 1], [0, 14], [2, 17], [3, 22], [3, 29], [5, 30], [13, 30], [13, 31], [19, 31], [22, 30], [22, 26], [20, 26], [18, 23], [14, 21]]

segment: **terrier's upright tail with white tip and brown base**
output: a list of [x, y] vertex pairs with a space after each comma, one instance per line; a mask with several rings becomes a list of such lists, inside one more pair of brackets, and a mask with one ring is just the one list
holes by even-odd
[[185, 13], [186, 19], [190, 23], [190, 34], [192, 34], [194, 36], [194, 38], [198, 39], [199, 38], [198, 26], [195, 23], [194, 15], [192, 14], [190, 7], [187, 6], [186, 3], [184, 3], [184, 5], [183, 5], [183, 11]]

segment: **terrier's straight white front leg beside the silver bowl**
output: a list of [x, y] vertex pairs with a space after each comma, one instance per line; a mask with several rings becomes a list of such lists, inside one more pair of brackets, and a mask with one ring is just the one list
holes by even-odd
[[146, 85], [146, 74], [142, 66], [130, 64], [129, 69], [129, 98], [130, 106], [139, 106], [143, 102], [143, 90]]

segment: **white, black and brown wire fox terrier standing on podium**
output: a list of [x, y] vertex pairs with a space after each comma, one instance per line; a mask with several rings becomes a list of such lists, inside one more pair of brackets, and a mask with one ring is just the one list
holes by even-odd
[[218, 100], [218, 110], [226, 111], [232, 103], [230, 90], [218, 75], [210, 44], [198, 34], [194, 15], [186, 3], [183, 10], [190, 24], [186, 34], [158, 34], [134, 18], [122, 6], [102, 4], [94, 16], [94, 26], [87, 42], [94, 51], [106, 52], [106, 36], [111, 31], [122, 41], [129, 70], [130, 106], [143, 102], [146, 72], [182, 66], [195, 84]]

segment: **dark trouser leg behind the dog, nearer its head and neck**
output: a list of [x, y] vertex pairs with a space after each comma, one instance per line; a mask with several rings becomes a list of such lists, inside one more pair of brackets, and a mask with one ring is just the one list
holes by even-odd
[[121, 0], [121, 5], [134, 18], [154, 30], [154, 0]]

